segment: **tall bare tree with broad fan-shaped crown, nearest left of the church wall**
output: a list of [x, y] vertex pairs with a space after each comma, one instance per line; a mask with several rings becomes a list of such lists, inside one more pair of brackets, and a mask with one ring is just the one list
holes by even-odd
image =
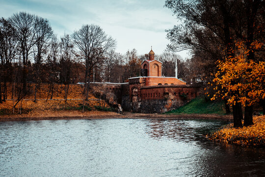
[[103, 62], [106, 52], [115, 48], [116, 40], [97, 25], [83, 25], [72, 34], [72, 38], [85, 64], [84, 93], [87, 100], [93, 70]]

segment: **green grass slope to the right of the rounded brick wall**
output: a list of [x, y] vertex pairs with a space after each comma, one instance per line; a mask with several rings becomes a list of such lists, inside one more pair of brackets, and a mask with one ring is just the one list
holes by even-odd
[[206, 101], [203, 97], [197, 97], [186, 105], [165, 114], [218, 114], [225, 115], [223, 101]]

